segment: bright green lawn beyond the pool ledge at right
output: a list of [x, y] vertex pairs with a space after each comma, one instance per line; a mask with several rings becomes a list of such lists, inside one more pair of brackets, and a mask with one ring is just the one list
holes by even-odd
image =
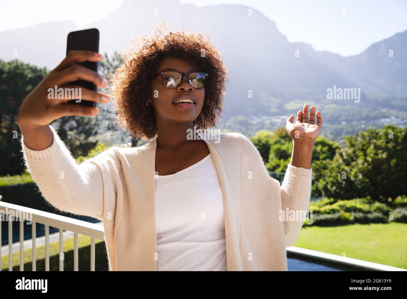
[[293, 246], [407, 269], [406, 223], [305, 225]]

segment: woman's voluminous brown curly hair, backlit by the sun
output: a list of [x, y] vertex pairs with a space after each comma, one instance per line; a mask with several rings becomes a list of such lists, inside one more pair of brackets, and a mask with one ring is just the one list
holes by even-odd
[[228, 71], [209, 35], [199, 31], [162, 33], [166, 27], [167, 22], [160, 22], [153, 37], [132, 39], [122, 53], [123, 63], [109, 75], [109, 92], [117, 110], [116, 124], [142, 140], [157, 136], [153, 106], [147, 106], [146, 101], [152, 74], [164, 57], [183, 59], [208, 73], [204, 105], [193, 122], [197, 128], [216, 125], [226, 95]]

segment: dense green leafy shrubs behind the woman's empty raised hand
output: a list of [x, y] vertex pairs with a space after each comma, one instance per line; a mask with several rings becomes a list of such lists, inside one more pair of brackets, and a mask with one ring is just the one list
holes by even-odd
[[[345, 137], [346, 145], [318, 137], [313, 149], [311, 168], [312, 196], [354, 199], [369, 196], [372, 201], [389, 203], [396, 198], [407, 205], [407, 129], [386, 125], [368, 128]], [[291, 160], [293, 142], [280, 128], [254, 138], [265, 166], [270, 172], [284, 172]], [[267, 148], [269, 147], [269, 150]], [[268, 153], [268, 158], [265, 155]]]

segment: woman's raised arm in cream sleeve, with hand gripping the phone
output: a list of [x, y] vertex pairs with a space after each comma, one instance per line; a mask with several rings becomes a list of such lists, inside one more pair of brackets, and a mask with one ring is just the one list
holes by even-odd
[[[45, 198], [60, 210], [95, 218], [103, 216], [103, 208], [106, 207], [103, 198], [111, 199], [114, 196], [112, 179], [108, 178], [109, 168], [106, 167], [107, 170], [104, 171], [99, 166], [104, 160], [109, 161], [105, 165], [114, 164], [117, 157], [110, 151], [110, 159], [106, 157], [107, 154], [103, 154], [103, 159], [87, 160], [77, 165], [49, 124], [63, 116], [96, 116], [99, 109], [81, 106], [78, 104], [81, 100], [95, 103], [109, 101], [107, 94], [76, 85], [72, 85], [70, 90], [65, 89], [62, 98], [52, 93], [54, 87], [59, 87], [59, 91], [77, 79], [106, 87], [108, 82], [102, 76], [78, 64], [83, 61], [96, 62], [101, 58], [102, 55], [92, 51], [70, 51], [24, 98], [17, 120], [22, 133], [26, 166]], [[71, 88], [75, 89], [74, 94], [77, 94], [76, 91], [80, 92], [79, 98], [72, 94]], [[70, 100], [75, 100], [76, 103], [70, 104]], [[112, 168], [112, 174], [115, 169]]]

